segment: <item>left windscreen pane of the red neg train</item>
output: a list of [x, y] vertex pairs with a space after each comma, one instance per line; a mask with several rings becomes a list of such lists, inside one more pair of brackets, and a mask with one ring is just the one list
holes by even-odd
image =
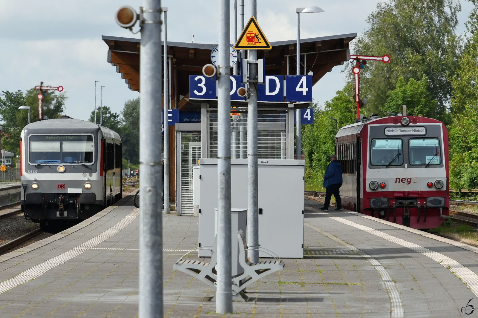
[[403, 164], [402, 139], [373, 139], [370, 163], [373, 166], [401, 166]]

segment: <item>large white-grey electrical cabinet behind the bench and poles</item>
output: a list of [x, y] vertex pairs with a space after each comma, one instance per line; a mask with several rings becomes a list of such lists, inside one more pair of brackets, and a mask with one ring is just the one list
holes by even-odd
[[[304, 160], [259, 159], [259, 244], [279, 257], [304, 256]], [[197, 175], [196, 175], [197, 176]], [[199, 160], [199, 244], [215, 236], [217, 159]], [[197, 178], [197, 177], [196, 177]], [[194, 191], [198, 189], [195, 186]], [[231, 159], [231, 207], [247, 207], [247, 159]], [[211, 256], [200, 250], [200, 257]], [[270, 255], [260, 252], [260, 257]]]

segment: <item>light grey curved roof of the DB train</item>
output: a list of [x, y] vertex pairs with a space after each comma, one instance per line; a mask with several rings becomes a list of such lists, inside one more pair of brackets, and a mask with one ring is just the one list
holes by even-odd
[[[80, 119], [74, 119], [70, 117], [59, 117], [59, 118], [54, 118], [54, 119], [45, 119], [45, 120], [40, 120], [40, 121], [35, 121], [31, 124], [28, 124], [23, 128], [23, 130], [28, 129], [29, 133], [34, 133], [36, 129], [39, 130], [44, 130], [44, 129], [86, 129], [86, 130], [95, 130], [99, 129], [103, 133], [103, 137], [106, 139], [112, 139], [112, 140], [118, 140], [121, 142], [121, 137], [118, 135], [118, 133], [114, 130], [111, 130], [107, 127], [100, 126], [98, 124], [86, 121], [86, 120], [80, 120]], [[44, 132], [44, 131], [43, 131]]]

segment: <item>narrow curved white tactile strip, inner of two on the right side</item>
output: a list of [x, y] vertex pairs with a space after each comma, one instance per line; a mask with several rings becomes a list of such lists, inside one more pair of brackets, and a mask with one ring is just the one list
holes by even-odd
[[[325, 213], [325, 212], [320, 213], [319, 212], [318, 214], [328, 214], [328, 213]], [[329, 234], [325, 231], [322, 231], [321, 229], [319, 229], [319, 228], [317, 228], [317, 227], [315, 227], [315, 226], [313, 226], [313, 225], [311, 225], [307, 222], [304, 222], [304, 225], [306, 225], [306, 226], [310, 227], [311, 229], [314, 229], [318, 233], [321, 233], [321, 234], [325, 235], [326, 237], [336, 241], [338, 244], [346, 246], [347, 248], [349, 248], [349, 249], [353, 250], [354, 252], [356, 252], [357, 254], [359, 254], [361, 257], [367, 259], [370, 262], [370, 264], [373, 266], [373, 268], [375, 268], [375, 270], [379, 273], [380, 278], [382, 279], [383, 284], [385, 285], [385, 288], [387, 289], [387, 293], [388, 293], [389, 299], [390, 299], [390, 307], [391, 307], [391, 313], [390, 313], [391, 316], [390, 317], [391, 318], [405, 317], [405, 314], [404, 314], [405, 310], [404, 310], [404, 307], [403, 307], [403, 301], [402, 301], [402, 297], [400, 297], [400, 291], [398, 289], [397, 283], [395, 283], [395, 281], [391, 278], [390, 273], [387, 271], [387, 269], [379, 261], [377, 261], [375, 258], [370, 256], [369, 254], [367, 254], [367, 253], [363, 252], [362, 250], [358, 249], [357, 247], [352, 246], [345, 241], [342, 241], [341, 239], [335, 237], [332, 234]]]

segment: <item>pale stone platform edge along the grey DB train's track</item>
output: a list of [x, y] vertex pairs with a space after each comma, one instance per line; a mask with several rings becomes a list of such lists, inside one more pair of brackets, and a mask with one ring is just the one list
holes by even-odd
[[[120, 201], [116, 202], [115, 205], [109, 206], [108, 208], [96, 213], [92, 217], [86, 219], [85, 221], [83, 221], [79, 224], [76, 224], [76, 225], [70, 227], [69, 229], [67, 229], [63, 232], [56, 233], [52, 236], [44, 238], [43, 240], [37, 241], [37, 242], [32, 243], [30, 245], [27, 245], [25, 247], [18, 248], [18, 249], [14, 250], [10, 253], [0, 255], [0, 263], [8, 261], [9, 259], [12, 259], [14, 257], [24, 255], [25, 253], [31, 252], [33, 250], [36, 250], [37, 248], [40, 248], [40, 247], [45, 246], [47, 244], [50, 244], [54, 241], [57, 241], [57, 240], [61, 239], [62, 237], [65, 237], [65, 236], [67, 236], [71, 233], [75, 233], [75, 232], [87, 227], [91, 223], [93, 223], [95, 221], [98, 221], [99, 219], [101, 219], [103, 216], [107, 215], [109, 212], [113, 211], [114, 209], [122, 206], [124, 203], [126, 203], [127, 201], [132, 199], [132, 197], [133, 197], [133, 195], [131, 195], [131, 194], [127, 195], [126, 197], [122, 198]], [[19, 250], [22, 250], [22, 253], [19, 253], [18, 252]]]

